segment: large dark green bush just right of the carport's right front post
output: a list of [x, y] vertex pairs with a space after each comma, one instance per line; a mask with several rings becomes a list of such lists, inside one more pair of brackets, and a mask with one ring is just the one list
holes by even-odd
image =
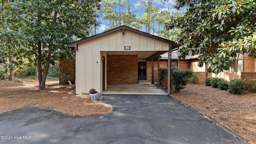
[[174, 85], [174, 92], [180, 92], [185, 86], [187, 82], [191, 78], [193, 72], [192, 70], [179, 70], [176, 67], [172, 68], [172, 83]]

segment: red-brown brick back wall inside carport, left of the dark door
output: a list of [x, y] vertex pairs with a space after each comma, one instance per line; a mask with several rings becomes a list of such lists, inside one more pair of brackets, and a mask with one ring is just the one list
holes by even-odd
[[107, 56], [107, 84], [137, 84], [138, 56]]

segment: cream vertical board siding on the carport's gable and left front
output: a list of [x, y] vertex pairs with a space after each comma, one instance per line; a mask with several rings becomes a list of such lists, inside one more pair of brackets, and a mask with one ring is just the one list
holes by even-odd
[[[102, 56], [105, 56], [105, 88], [107, 85], [107, 51], [168, 51], [169, 44], [125, 30], [116, 31], [78, 44], [76, 51], [76, 94], [88, 93], [91, 88], [102, 92]], [[98, 61], [98, 63], [97, 63]]]

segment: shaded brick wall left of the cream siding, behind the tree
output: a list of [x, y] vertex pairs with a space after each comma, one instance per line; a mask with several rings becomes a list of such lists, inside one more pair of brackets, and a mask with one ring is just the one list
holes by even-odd
[[[68, 80], [72, 84], [75, 84], [75, 60], [74, 59], [62, 59], [60, 60], [60, 73], [67, 74]], [[61, 79], [59, 78], [61, 81]]]

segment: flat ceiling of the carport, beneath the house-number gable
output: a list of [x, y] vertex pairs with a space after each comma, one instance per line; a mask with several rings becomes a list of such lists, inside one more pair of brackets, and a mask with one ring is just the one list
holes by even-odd
[[[138, 56], [138, 58], [148, 58], [158, 51], [108, 51], [108, 56]], [[167, 51], [161, 51], [163, 54]]]

